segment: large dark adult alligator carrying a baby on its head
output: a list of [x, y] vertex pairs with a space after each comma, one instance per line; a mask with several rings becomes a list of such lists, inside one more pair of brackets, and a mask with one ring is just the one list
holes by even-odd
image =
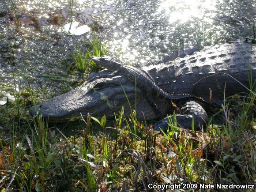
[[[168, 94], [194, 95], [205, 102], [221, 105], [224, 93], [226, 97], [248, 93], [248, 87], [255, 86], [255, 53], [254, 44], [242, 41], [225, 43], [164, 64], [144, 66], [142, 71], [148, 73], [153, 78], [151, 80]], [[173, 113], [170, 99], [154, 95], [154, 103], [163, 112], [156, 113], [148, 97], [145, 89], [137, 87], [127, 74], [104, 69], [91, 73], [87, 82], [74, 90], [38, 103], [30, 109], [30, 114], [34, 116], [39, 113], [49, 121], [61, 122], [88, 113], [94, 117], [117, 114], [122, 106], [125, 115], [131, 113], [131, 109], [136, 109], [138, 120], [159, 120]], [[192, 118], [198, 117], [196, 128], [207, 123], [207, 106], [200, 101], [181, 98], [176, 104], [183, 113], [176, 115], [177, 123], [182, 127], [190, 128]], [[154, 128], [163, 128], [166, 123], [167, 117], [155, 124]]]

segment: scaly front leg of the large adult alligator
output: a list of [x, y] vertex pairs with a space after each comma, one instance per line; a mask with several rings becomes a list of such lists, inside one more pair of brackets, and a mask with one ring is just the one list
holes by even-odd
[[[195, 130], [200, 130], [202, 127], [205, 127], [208, 122], [208, 116], [203, 107], [194, 101], [186, 102], [182, 108], [182, 113], [184, 115], [177, 114], [176, 120], [177, 124], [179, 124], [183, 128], [191, 129], [192, 127], [192, 118], [194, 118], [194, 128]], [[174, 122], [173, 115], [170, 116], [172, 121]], [[168, 126], [169, 119], [168, 117], [158, 121], [156, 124], [153, 125], [154, 130], [160, 131], [160, 128], [163, 131], [166, 131]]]

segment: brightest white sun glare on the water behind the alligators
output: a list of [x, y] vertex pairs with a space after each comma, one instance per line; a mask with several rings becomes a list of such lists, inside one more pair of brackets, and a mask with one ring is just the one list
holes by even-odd
[[[130, 1], [134, 2], [134, 1]], [[108, 4], [106, 2], [106, 4]], [[148, 6], [147, 6], [148, 4]], [[126, 8], [130, 8], [129, 6], [130, 4], [128, 4], [126, 6]], [[149, 2], [145, 2], [145, 6], [144, 8], [147, 10], [150, 10], [150, 6], [152, 4], [150, 4]], [[128, 53], [128, 51], [130, 50], [129, 47], [132, 46], [134, 47], [134, 44], [138, 44], [139, 42], [141, 42], [144, 45], [144, 42], [148, 41], [148, 36], [150, 34], [154, 34], [154, 33], [165, 33], [168, 32], [168, 29], [170, 29], [171, 31], [175, 31], [177, 30], [176, 27], [173, 27], [177, 24], [175, 24], [175, 22], [179, 22], [179, 24], [181, 23], [191, 23], [194, 20], [198, 20], [198, 19], [204, 19], [205, 15], [207, 14], [207, 17], [205, 18], [206, 22], [208, 23], [212, 23], [212, 18], [215, 16], [215, 12], [216, 11], [216, 0], [158, 0], [157, 2], [155, 2], [155, 7], [158, 7], [157, 9], [152, 9], [151, 11], [145, 11], [142, 13], [143, 17], [140, 17], [139, 15], [137, 15], [137, 18], [134, 18], [137, 21], [134, 23], [129, 23], [129, 29], [128, 30], [124, 30], [126, 33], [133, 33], [133, 34], [129, 34], [131, 38], [130, 41], [127, 41], [127, 38], [120, 38], [122, 36], [122, 33], [120, 33], [120, 29], [122, 27], [122, 24], [125, 24], [125, 21], [128, 21], [130, 18], [133, 18], [133, 16], [135, 15], [134, 12], [128, 12], [128, 14], [130, 15], [120, 15], [121, 18], [119, 21], [117, 21], [116, 25], [113, 26], [113, 29], [119, 29], [119, 33], [114, 32], [113, 37], [114, 38], [120, 38], [120, 40], [118, 41], [117, 39], [113, 39], [108, 41], [109, 45], [111, 46], [111, 51], [115, 52], [115, 50], [113, 49], [114, 47], [117, 47], [118, 45], [120, 46], [121, 50], [121, 54], [119, 56], [120, 60], [134, 60], [135, 58], [138, 57], [138, 55], [133, 55], [133, 53]], [[128, 9], [127, 9], [128, 10]], [[125, 10], [124, 10], [125, 13]], [[145, 14], [145, 15], [144, 15]], [[126, 17], [126, 18], [125, 18]], [[147, 19], [145, 19], [145, 17], [147, 17]], [[145, 25], [149, 25], [147, 23], [154, 23], [156, 25], [160, 25], [161, 26], [161, 22], [159, 21], [159, 19], [161, 17], [164, 17], [166, 19], [166, 22], [168, 22], [169, 24], [166, 26], [166, 28], [160, 28], [158, 27], [152, 27], [149, 30], [140, 30], [139, 33], [134, 33], [132, 32], [131, 29], [134, 28], [141, 28]], [[112, 25], [111, 23], [108, 23], [109, 25]], [[195, 25], [193, 23], [191, 23], [192, 27], [195, 27]], [[171, 28], [170, 28], [171, 27]], [[202, 30], [202, 28], [200, 28]], [[162, 30], [162, 31], [161, 31]], [[118, 36], [119, 34], [119, 36]], [[184, 34], [181, 34], [184, 35]], [[153, 40], [153, 39], [151, 39]], [[144, 41], [144, 42], [143, 42]], [[162, 43], [162, 39], [159, 37], [155, 37], [154, 38], [154, 42], [157, 44]], [[166, 39], [166, 43], [169, 43], [169, 40]], [[149, 43], [146, 42], [146, 45], [149, 45]], [[145, 46], [144, 46], [145, 47]], [[168, 49], [168, 46], [164, 45], [163, 48]], [[141, 51], [141, 50], [140, 50]], [[142, 49], [142, 51], [145, 51], [145, 49]], [[155, 59], [158, 59], [158, 57], [155, 57]], [[140, 59], [139, 62], [140, 63], [145, 63], [145, 60]]]

